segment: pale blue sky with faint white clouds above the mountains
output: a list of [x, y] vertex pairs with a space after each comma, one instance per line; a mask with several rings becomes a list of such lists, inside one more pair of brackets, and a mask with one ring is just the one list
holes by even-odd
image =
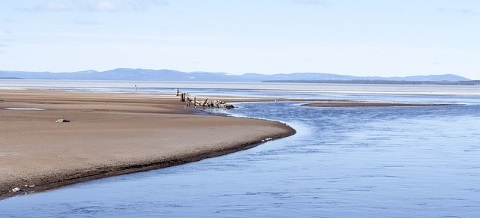
[[0, 70], [457, 74], [480, 0], [2, 0]]

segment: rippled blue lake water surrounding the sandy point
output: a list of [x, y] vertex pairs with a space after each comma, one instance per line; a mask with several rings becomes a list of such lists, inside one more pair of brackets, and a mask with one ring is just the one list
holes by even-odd
[[[140, 86], [140, 90], [160, 92], [180, 87], [162, 84], [151, 83], [148, 89]], [[104, 84], [93, 91], [129, 87], [116, 85], [108, 88]], [[180, 88], [219, 95], [465, 105], [311, 108], [301, 106], [301, 102], [240, 103], [228, 111], [229, 115], [279, 120], [294, 127], [297, 134], [196, 163], [9, 198], [0, 201], [0, 217], [480, 214], [478, 86], [202, 86]], [[19, 86], [4, 86], [8, 87]], [[87, 87], [81, 89], [92, 91]]]

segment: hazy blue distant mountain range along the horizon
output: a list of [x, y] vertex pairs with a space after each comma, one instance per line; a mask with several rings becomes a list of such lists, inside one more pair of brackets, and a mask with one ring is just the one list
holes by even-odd
[[148, 70], [119, 68], [103, 72], [79, 71], [68, 73], [0, 71], [0, 79], [59, 79], [59, 80], [137, 80], [137, 81], [209, 81], [209, 82], [302, 82], [302, 81], [471, 81], [454, 74], [408, 77], [357, 77], [328, 73], [290, 73], [232, 75], [212, 72], [181, 72], [176, 70]]

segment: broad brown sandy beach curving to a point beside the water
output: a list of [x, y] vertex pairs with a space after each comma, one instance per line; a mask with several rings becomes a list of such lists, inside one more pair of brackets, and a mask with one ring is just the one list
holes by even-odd
[[294, 133], [280, 122], [196, 113], [175, 95], [0, 90], [0, 199], [198, 161]]

